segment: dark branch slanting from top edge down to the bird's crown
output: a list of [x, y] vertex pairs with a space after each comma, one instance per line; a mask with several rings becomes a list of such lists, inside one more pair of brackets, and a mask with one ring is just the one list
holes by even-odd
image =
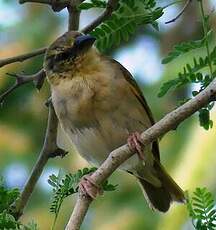
[[87, 34], [91, 32], [93, 29], [95, 29], [98, 25], [100, 25], [104, 20], [109, 18], [112, 14], [112, 12], [117, 8], [119, 0], [109, 0], [107, 2], [107, 7], [105, 11], [97, 17], [93, 22], [91, 22], [89, 25], [84, 27], [81, 32], [84, 34]]

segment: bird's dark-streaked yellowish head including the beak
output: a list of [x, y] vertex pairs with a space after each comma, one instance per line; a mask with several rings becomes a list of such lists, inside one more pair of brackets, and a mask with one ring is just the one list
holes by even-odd
[[58, 73], [69, 70], [91, 49], [95, 40], [93, 36], [83, 35], [77, 31], [66, 32], [47, 49], [44, 60], [45, 71]]

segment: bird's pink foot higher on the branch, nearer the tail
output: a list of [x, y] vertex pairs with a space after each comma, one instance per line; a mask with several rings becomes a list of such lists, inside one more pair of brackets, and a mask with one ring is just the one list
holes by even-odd
[[127, 139], [128, 146], [132, 152], [136, 152], [140, 160], [144, 161], [143, 146], [140, 133], [131, 133]]

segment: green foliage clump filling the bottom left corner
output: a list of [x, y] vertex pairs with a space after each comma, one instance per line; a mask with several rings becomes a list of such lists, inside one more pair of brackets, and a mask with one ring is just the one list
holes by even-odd
[[3, 180], [0, 179], [0, 229], [37, 230], [37, 225], [35, 223], [32, 222], [28, 225], [23, 225], [13, 216], [11, 205], [16, 201], [19, 195], [19, 189], [6, 188]]

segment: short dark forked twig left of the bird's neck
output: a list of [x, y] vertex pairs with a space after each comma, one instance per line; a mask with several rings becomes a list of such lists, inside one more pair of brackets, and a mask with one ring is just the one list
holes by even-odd
[[0, 95], [0, 104], [4, 102], [4, 99], [10, 93], [12, 93], [16, 88], [18, 88], [21, 85], [25, 85], [33, 81], [35, 83], [36, 88], [40, 89], [46, 77], [46, 74], [43, 69], [37, 72], [36, 74], [32, 74], [32, 75], [12, 74], [12, 73], [7, 73], [7, 75], [16, 78], [16, 82], [12, 87], [7, 89], [2, 95]]

